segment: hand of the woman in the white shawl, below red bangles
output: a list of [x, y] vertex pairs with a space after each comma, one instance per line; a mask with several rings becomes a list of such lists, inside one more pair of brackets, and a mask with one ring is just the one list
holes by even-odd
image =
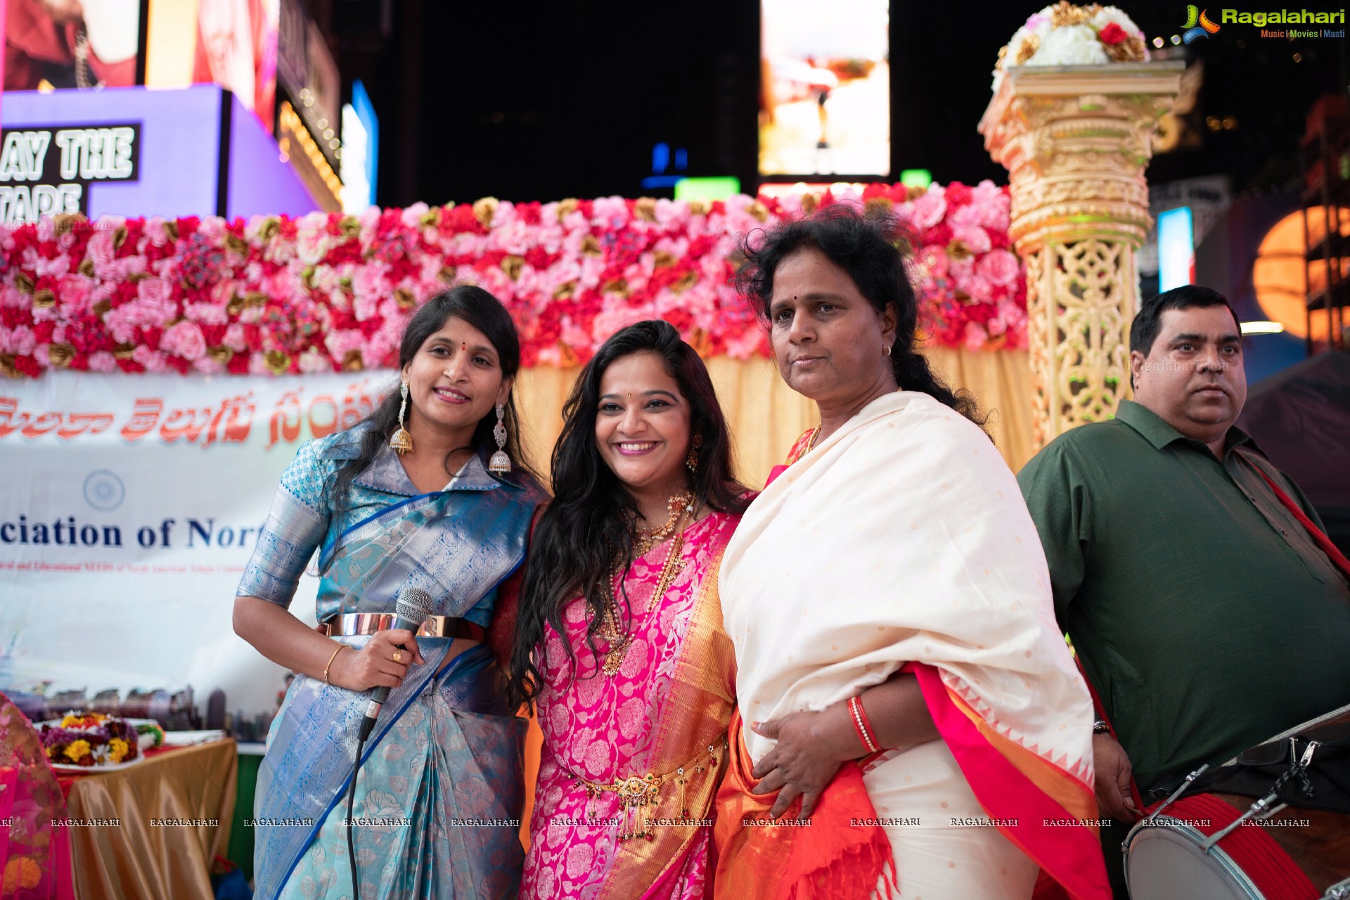
[[763, 795], [778, 791], [778, 799], [770, 810], [770, 818], [776, 819], [802, 797], [802, 812], [798, 818], [809, 819], [815, 804], [840, 769], [841, 760], [832, 752], [828, 739], [819, 730], [825, 712], [790, 712], [770, 722], [752, 722], [751, 729], [765, 738], [778, 741], [778, 746], [764, 754], [752, 775], [760, 779], [752, 793]]

